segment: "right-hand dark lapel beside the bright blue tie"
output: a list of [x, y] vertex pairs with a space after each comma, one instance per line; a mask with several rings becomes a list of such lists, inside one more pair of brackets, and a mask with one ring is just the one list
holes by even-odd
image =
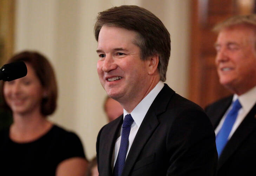
[[236, 151], [247, 136], [256, 128], [256, 104], [251, 111], [245, 116], [242, 123], [238, 126], [227, 145], [223, 149], [218, 161], [218, 169], [228, 160], [228, 158]]

